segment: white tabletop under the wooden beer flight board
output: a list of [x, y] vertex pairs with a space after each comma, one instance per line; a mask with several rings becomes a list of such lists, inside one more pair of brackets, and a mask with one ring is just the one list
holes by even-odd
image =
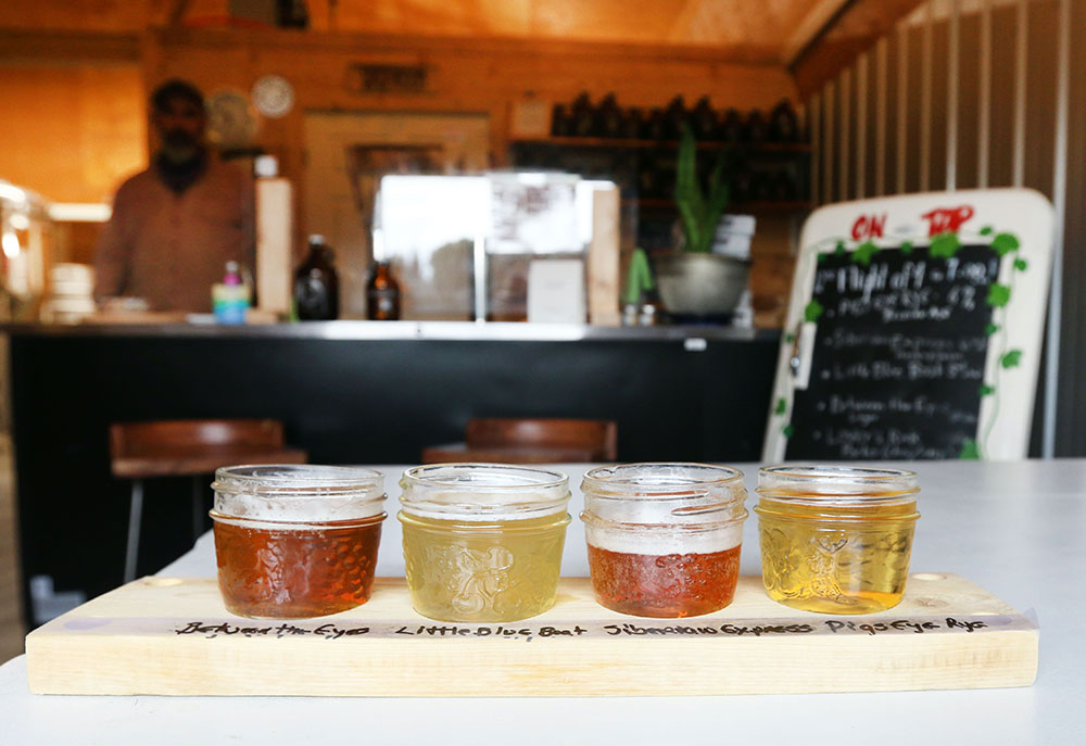
[[[753, 490], [756, 467], [740, 467]], [[403, 467], [377, 468], [397, 495]], [[585, 576], [576, 515], [588, 466], [557, 468], [573, 488], [563, 573]], [[1033, 686], [651, 698], [36, 696], [27, 691], [21, 656], [0, 667], [0, 746], [1086, 743], [1086, 459], [909, 468], [922, 488], [911, 569], [956, 572], [1035, 615], [1040, 665]], [[756, 519], [745, 528], [742, 571], [757, 574]], [[403, 573], [394, 518], [386, 521], [377, 567], [380, 576]], [[159, 574], [213, 577], [214, 568], [205, 535]]]

